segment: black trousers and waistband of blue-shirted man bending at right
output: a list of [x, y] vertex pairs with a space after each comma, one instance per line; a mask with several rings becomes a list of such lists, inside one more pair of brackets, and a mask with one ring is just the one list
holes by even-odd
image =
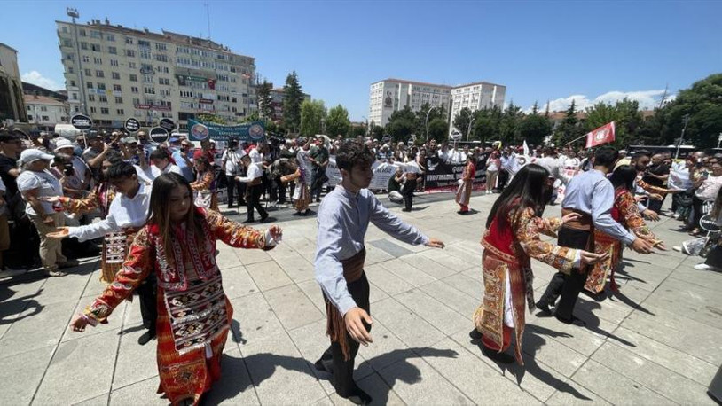
[[[591, 237], [590, 231], [561, 227], [557, 244], [569, 248], [586, 249], [587, 242]], [[539, 302], [551, 306], [554, 301], [561, 296], [559, 304], [556, 307], [556, 316], [570, 320], [574, 306], [577, 304], [579, 293], [582, 292], [585, 286], [588, 274], [589, 267], [585, 267], [584, 272], [579, 272], [578, 269], [572, 269], [569, 276], [557, 272], [552, 277], [549, 285], [546, 286], [546, 291], [539, 299]]]

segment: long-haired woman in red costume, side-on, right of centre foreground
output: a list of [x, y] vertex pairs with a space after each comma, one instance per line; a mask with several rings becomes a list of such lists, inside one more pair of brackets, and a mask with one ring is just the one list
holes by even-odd
[[607, 259], [539, 239], [544, 233], [556, 237], [562, 223], [577, 220], [577, 214], [562, 218], [541, 218], [544, 188], [549, 173], [537, 164], [524, 166], [504, 189], [486, 221], [482, 238], [484, 295], [474, 314], [475, 330], [469, 335], [482, 339], [483, 354], [502, 363], [514, 357], [504, 353], [514, 332], [516, 361], [522, 361], [525, 305], [534, 308], [533, 274], [530, 258], [545, 262], [561, 272], [576, 271], [583, 263]]

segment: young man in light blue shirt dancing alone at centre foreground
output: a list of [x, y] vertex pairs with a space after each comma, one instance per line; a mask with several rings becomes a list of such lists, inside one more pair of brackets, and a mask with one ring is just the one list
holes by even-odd
[[373, 152], [356, 141], [347, 141], [336, 152], [342, 181], [318, 208], [316, 281], [326, 300], [327, 331], [331, 347], [316, 362], [319, 371], [333, 374], [336, 393], [356, 404], [371, 396], [353, 380], [358, 345], [373, 342], [369, 316], [369, 284], [364, 272], [364, 237], [369, 222], [392, 237], [413, 245], [443, 248], [412, 225], [392, 215], [369, 191], [373, 177]]

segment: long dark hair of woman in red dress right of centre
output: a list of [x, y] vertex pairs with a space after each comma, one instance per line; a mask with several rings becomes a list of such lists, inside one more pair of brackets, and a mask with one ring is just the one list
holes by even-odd
[[508, 222], [509, 213], [512, 211], [519, 214], [527, 207], [531, 207], [535, 213], [541, 211], [545, 206], [544, 188], [548, 177], [549, 171], [544, 167], [533, 163], [525, 165], [494, 202], [486, 219], [486, 228], [491, 226], [495, 217], [499, 227], [515, 227], [516, 220], [514, 224]]

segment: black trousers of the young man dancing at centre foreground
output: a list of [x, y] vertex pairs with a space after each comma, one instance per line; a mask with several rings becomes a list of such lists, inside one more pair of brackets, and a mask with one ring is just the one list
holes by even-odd
[[[369, 285], [368, 279], [366, 279], [366, 273], [356, 281], [351, 282], [347, 285], [349, 288], [349, 294], [356, 305], [359, 308], [363, 308], [366, 313], [371, 315], [371, 307], [369, 304]], [[326, 296], [325, 296], [326, 297]], [[328, 300], [328, 299], [326, 299]], [[371, 324], [365, 324], [366, 331], [371, 332]], [[334, 376], [331, 379], [331, 384], [334, 385], [336, 393], [340, 396], [349, 396], [353, 394], [356, 389], [356, 383], [354, 382], [354, 363], [356, 363], [356, 355], [358, 353], [358, 342], [351, 338], [349, 332], [346, 332], [346, 340], [349, 342], [349, 361], [343, 360], [343, 353], [341, 352], [341, 344], [337, 342], [331, 342], [331, 346], [326, 349], [323, 355], [321, 355], [321, 363], [326, 366], [326, 369], [333, 371]], [[330, 366], [330, 368], [329, 368]]]

